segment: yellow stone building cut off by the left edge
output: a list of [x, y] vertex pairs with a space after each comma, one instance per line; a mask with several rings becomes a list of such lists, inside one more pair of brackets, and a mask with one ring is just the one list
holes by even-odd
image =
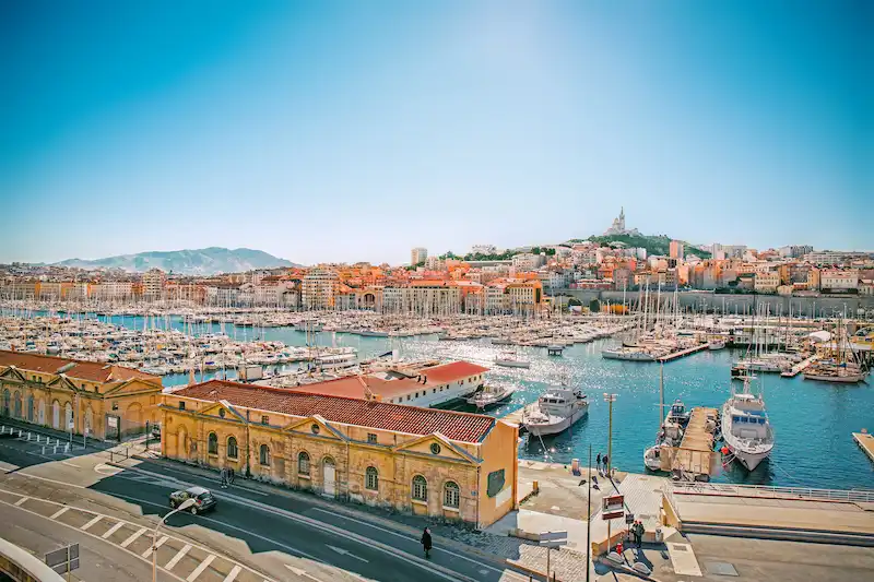
[[161, 378], [130, 368], [0, 351], [0, 415], [121, 440], [158, 420]]

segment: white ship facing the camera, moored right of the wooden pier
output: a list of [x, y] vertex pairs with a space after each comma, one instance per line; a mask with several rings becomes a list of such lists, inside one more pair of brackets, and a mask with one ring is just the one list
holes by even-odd
[[749, 392], [749, 378], [744, 379], [743, 392], [734, 392], [722, 405], [722, 438], [729, 452], [747, 471], [753, 471], [771, 454], [773, 429], [765, 412], [761, 394]]

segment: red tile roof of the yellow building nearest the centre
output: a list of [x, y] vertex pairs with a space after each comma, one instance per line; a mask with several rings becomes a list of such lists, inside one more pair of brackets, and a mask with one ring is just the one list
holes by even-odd
[[[354, 380], [354, 379], [353, 379]], [[258, 408], [291, 416], [320, 415], [328, 421], [394, 430], [410, 435], [440, 432], [450, 440], [479, 442], [495, 426], [495, 419], [482, 414], [456, 413], [387, 404], [385, 402], [311, 394], [299, 390], [270, 388], [226, 380], [210, 380], [184, 388], [174, 396], [217, 402], [226, 400], [234, 406]]]

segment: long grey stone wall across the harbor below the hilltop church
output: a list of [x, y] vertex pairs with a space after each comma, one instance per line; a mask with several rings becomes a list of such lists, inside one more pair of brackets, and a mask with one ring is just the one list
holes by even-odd
[[[621, 292], [621, 290], [600, 290], [600, 289], [556, 289], [553, 296], [569, 296], [578, 299], [583, 306], [592, 299], [601, 302], [622, 304], [623, 299], [628, 304], [638, 301], [642, 292]], [[653, 292], [650, 289], [650, 294]], [[665, 292], [664, 296], [673, 295], [673, 292]], [[677, 293], [680, 305], [684, 308], [696, 308], [698, 310], [720, 311], [734, 313], [752, 313], [757, 306], [770, 307], [771, 314], [788, 314], [789, 307], [792, 306], [792, 313], [800, 313], [805, 317], [831, 317], [843, 314], [845, 309], [848, 316], [855, 316], [860, 309], [869, 312], [874, 311], [874, 297], [847, 295], [847, 296], [819, 296], [819, 297], [783, 297], [780, 295], [753, 295], [753, 294], [718, 294], [713, 292], [680, 292]]]

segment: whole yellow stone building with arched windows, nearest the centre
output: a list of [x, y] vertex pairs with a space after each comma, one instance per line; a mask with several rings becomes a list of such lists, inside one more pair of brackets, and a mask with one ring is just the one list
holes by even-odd
[[222, 380], [163, 400], [169, 459], [477, 527], [517, 506], [518, 429], [491, 416]]

